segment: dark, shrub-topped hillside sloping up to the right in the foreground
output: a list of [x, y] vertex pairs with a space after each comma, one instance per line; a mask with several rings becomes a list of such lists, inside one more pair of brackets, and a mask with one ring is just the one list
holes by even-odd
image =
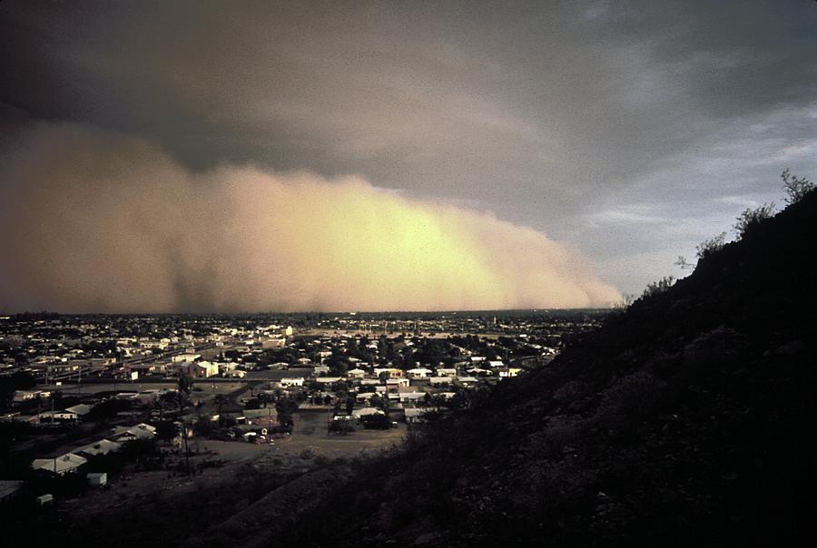
[[812, 191], [438, 419], [276, 544], [811, 545], [815, 242]]

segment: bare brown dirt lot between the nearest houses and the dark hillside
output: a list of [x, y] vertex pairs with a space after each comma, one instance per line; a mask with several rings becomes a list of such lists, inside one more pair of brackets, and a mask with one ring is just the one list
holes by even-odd
[[167, 504], [175, 506], [173, 501], [189, 501], [191, 496], [215, 501], [225, 494], [231, 496], [236, 486], [242, 484], [257, 484], [262, 489], [258, 493], [261, 496], [266, 490], [310, 477], [312, 471], [324, 467], [329, 470], [334, 459], [373, 455], [388, 449], [399, 444], [406, 434], [406, 426], [400, 425], [389, 430], [328, 435], [330, 416], [324, 410], [296, 412], [293, 434], [276, 439], [274, 444], [192, 438], [189, 442], [192, 476], [186, 473], [182, 448], [164, 447], [165, 469], [145, 471], [129, 466], [121, 475], [113, 476], [105, 489], [89, 491], [82, 498], [60, 505], [70, 509], [75, 519], [91, 524], [96, 516], [108, 514], [111, 509], [125, 511], [133, 504], [146, 512], [155, 506], [160, 512], [162, 507], [169, 508]]

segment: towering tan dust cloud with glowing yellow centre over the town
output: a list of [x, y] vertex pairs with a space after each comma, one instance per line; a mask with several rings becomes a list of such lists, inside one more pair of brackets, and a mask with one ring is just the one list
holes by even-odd
[[607, 306], [575, 251], [357, 177], [193, 173], [150, 144], [38, 125], [0, 166], [0, 308], [440, 310]]

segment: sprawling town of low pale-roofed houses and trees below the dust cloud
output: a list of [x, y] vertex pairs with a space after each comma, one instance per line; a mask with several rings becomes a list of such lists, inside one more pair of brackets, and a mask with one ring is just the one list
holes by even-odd
[[374, 455], [482, 387], [546, 365], [602, 318], [2, 317], [0, 499], [93, 511], [236, 465]]

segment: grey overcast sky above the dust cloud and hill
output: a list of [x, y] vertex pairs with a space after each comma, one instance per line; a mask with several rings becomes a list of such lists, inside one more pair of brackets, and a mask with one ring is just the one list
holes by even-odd
[[784, 168], [817, 178], [811, 0], [6, 0], [0, 27], [5, 146], [71, 122], [194, 174], [358, 176], [537, 230], [623, 293], [782, 203]]

